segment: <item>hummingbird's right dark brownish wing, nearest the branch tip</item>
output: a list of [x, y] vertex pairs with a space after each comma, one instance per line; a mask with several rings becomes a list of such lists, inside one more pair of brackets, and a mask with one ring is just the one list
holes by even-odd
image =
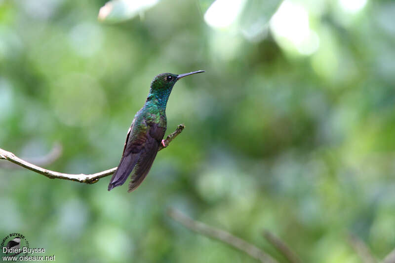
[[135, 190], [144, 178], [147, 176], [151, 169], [152, 163], [158, 153], [158, 147], [163, 139], [165, 127], [160, 127], [157, 123], [149, 123], [149, 129], [146, 134], [147, 140], [144, 143], [144, 147], [141, 149], [140, 159], [137, 162], [136, 169], [133, 171], [129, 188], [127, 192]]

